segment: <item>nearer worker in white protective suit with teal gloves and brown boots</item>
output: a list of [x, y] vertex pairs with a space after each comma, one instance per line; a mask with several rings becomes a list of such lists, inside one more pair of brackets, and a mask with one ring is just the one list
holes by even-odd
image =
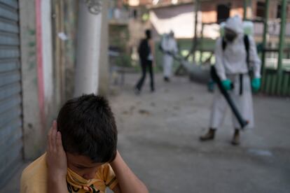
[[[245, 44], [245, 37], [247, 43]], [[247, 49], [246, 49], [247, 47]], [[215, 48], [216, 73], [221, 79], [223, 87], [228, 90], [235, 106], [249, 124], [245, 128], [254, 127], [254, 113], [251, 96], [251, 87], [254, 92], [261, 87], [261, 60], [258, 58], [254, 38], [244, 35], [242, 20], [239, 16], [226, 20], [225, 35], [216, 41]], [[252, 80], [249, 69], [253, 69]], [[214, 94], [209, 131], [200, 136], [201, 141], [214, 139], [216, 129], [221, 127], [228, 104], [219, 90]], [[233, 116], [235, 129], [232, 144], [240, 144], [240, 124]]]

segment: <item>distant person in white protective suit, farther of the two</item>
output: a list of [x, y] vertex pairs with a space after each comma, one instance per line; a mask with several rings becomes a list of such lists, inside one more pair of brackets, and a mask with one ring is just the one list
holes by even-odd
[[170, 34], [163, 36], [161, 48], [163, 50], [163, 76], [164, 80], [169, 82], [172, 75], [172, 55], [175, 55], [178, 52], [177, 42], [174, 39], [173, 31], [170, 31]]

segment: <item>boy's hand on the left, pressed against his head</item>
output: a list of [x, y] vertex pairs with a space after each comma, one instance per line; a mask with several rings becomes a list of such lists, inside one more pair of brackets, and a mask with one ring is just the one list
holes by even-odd
[[67, 176], [67, 155], [62, 147], [62, 135], [60, 131], [57, 131], [56, 121], [53, 121], [53, 127], [48, 132], [47, 145], [48, 178], [65, 179]]

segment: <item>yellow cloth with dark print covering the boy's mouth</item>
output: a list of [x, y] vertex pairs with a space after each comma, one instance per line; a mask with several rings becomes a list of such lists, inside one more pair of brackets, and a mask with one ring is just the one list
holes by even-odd
[[97, 179], [86, 180], [71, 169], [67, 169], [67, 183], [74, 188], [74, 190], [85, 190], [86, 192], [99, 192], [92, 184], [96, 183]]

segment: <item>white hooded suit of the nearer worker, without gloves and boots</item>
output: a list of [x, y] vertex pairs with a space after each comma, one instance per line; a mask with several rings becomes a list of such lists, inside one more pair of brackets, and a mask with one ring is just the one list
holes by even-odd
[[[228, 92], [244, 120], [249, 121], [246, 128], [252, 128], [254, 127], [254, 113], [251, 96], [251, 80], [249, 78], [249, 69], [246, 59], [247, 51], [244, 45], [242, 20], [240, 17], [230, 17], [226, 21], [225, 28], [235, 31], [237, 37], [233, 42], [226, 43], [225, 50], [222, 48], [222, 38], [216, 41], [216, 73], [221, 80], [229, 79], [233, 83], [234, 89]], [[254, 77], [261, 78], [261, 60], [258, 58], [256, 43], [251, 36], [249, 36], [249, 65], [254, 69]], [[240, 78], [241, 75], [242, 79]], [[219, 90], [216, 90], [212, 106], [210, 128], [217, 129], [221, 127], [227, 107], [228, 103], [226, 99], [223, 98]], [[240, 129], [240, 124], [237, 122], [234, 115], [233, 124], [234, 129]]]

